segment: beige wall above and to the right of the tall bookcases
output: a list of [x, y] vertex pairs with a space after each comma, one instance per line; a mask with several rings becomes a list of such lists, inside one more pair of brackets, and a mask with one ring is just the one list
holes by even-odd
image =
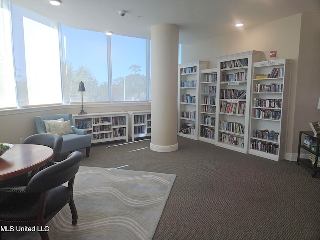
[[[292, 59], [286, 159], [295, 160], [298, 132], [310, 130], [308, 122], [320, 120], [320, 110], [315, 106], [320, 97], [319, 19], [318, 13], [297, 14], [256, 27], [236, 29], [233, 33], [206, 41], [183, 45], [181, 62], [204, 60], [209, 61], [209, 68], [215, 68], [216, 57], [250, 50], [263, 51], [261, 61]], [[269, 52], [273, 50], [277, 51], [277, 56], [270, 58]], [[306, 92], [312, 94], [305, 94]], [[308, 104], [310, 102], [312, 104]]]

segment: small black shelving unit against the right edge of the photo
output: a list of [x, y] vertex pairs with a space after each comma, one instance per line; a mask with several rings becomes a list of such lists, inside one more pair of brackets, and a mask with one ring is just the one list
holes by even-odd
[[[316, 145], [314, 145], [315, 151], [312, 151], [311, 148], [305, 146], [303, 144], [303, 142], [301, 143], [302, 136], [304, 136], [304, 138], [305, 138], [305, 136], [308, 136], [310, 139], [312, 139], [312, 141], [316, 142]], [[298, 159], [297, 159], [296, 164], [299, 165], [301, 162], [304, 165], [306, 165], [307, 167], [309, 167], [310, 169], [312, 169], [313, 170], [313, 173], [311, 174], [312, 177], [316, 177], [317, 172], [320, 171], [320, 167], [317, 166], [318, 165], [318, 157], [319, 157], [319, 145], [320, 145], [320, 136], [315, 136], [313, 131], [300, 131]], [[313, 153], [315, 155], [315, 162], [314, 163], [310, 159], [301, 159], [300, 158], [301, 148], [310, 152], [310, 153]]]

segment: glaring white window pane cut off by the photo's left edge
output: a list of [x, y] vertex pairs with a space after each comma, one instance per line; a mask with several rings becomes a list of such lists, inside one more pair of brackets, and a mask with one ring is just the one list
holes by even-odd
[[16, 106], [10, 12], [3, 5], [0, 6], [0, 108]]

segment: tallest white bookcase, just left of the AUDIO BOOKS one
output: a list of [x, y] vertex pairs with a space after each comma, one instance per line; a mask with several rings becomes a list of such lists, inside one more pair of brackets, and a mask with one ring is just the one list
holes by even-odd
[[215, 145], [247, 153], [253, 62], [260, 51], [217, 57]]

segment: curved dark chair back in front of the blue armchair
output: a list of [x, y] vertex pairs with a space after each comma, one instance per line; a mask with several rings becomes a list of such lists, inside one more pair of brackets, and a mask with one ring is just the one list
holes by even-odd
[[53, 149], [54, 155], [60, 153], [62, 149], [63, 137], [52, 133], [40, 133], [24, 139], [22, 144], [35, 144], [48, 146]]

